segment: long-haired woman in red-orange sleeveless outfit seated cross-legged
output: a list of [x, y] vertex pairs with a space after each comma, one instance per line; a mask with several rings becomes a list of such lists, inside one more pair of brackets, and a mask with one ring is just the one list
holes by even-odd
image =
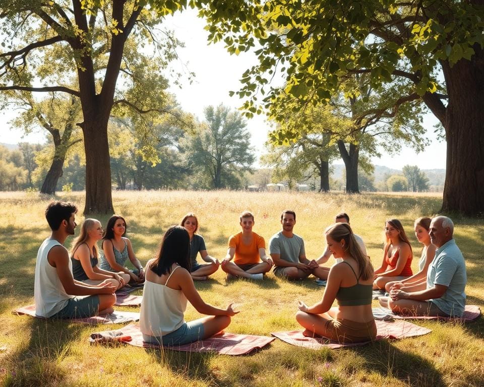
[[375, 270], [373, 289], [385, 289], [391, 281], [401, 281], [412, 273], [412, 247], [398, 219], [385, 223], [385, 248], [382, 266]]

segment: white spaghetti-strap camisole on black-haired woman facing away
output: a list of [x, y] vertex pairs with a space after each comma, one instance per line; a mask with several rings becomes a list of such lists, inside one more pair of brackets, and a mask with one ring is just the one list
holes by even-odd
[[173, 269], [164, 285], [145, 280], [140, 313], [140, 331], [143, 335], [164, 336], [184, 324], [187, 297], [181, 290], [166, 286], [178, 268]]

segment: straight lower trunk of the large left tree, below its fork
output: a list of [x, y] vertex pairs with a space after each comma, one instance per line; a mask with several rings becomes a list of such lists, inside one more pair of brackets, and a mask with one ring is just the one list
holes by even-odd
[[86, 205], [84, 214], [112, 215], [114, 209], [111, 197], [107, 119], [87, 120], [87, 117], [84, 116], [82, 130], [86, 153]]

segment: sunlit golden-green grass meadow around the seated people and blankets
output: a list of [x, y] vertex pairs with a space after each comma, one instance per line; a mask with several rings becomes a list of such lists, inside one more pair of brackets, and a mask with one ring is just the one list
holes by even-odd
[[[0, 193], [0, 382], [5, 386], [482, 386], [484, 385], [484, 318], [462, 325], [417, 321], [432, 329], [426, 336], [383, 340], [363, 347], [308, 350], [279, 340], [248, 356], [145, 350], [131, 346], [90, 345], [91, 333], [114, 326], [86, 326], [15, 316], [16, 307], [33, 303], [37, 249], [49, 235], [44, 218], [52, 199], [73, 201], [82, 209], [84, 193], [56, 198], [32, 192]], [[269, 241], [280, 229], [280, 212], [297, 214], [294, 232], [305, 239], [309, 259], [325, 249], [324, 229], [334, 215], [346, 212], [366, 242], [374, 266], [383, 255], [385, 219], [398, 218], [409, 236], [413, 269], [421, 247], [413, 221], [438, 213], [441, 198], [426, 195], [344, 195], [313, 192], [142, 191], [113, 192], [114, 208], [128, 223], [137, 257], [144, 264], [156, 252], [163, 232], [187, 212], [200, 221], [210, 255], [222, 259], [228, 237], [239, 231], [238, 214], [255, 214], [254, 231]], [[82, 210], [80, 211], [82, 212]], [[97, 217], [103, 225], [108, 216]], [[77, 223], [83, 221], [81, 214]], [[453, 217], [455, 239], [467, 264], [467, 303], [484, 308], [484, 220]], [[79, 233], [80, 227], [76, 229]], [[69, 247], [72, 239], [68, 239]], [[330, 262], [331, 263], [331, 262]], [[217, 306], [234, 302], [240, 310], [227, 332], [270, 336], [299, 329], [296, 301], [308, 304], [324, 288], [305, 281], [287, 282], [269, 274], [264, 281], [226, 282], [223, 272], [196, 284], [202, 297]], [[141, 294], [137, 291], [135, 294]], [[377, 301], [374, 301], [377, 306]], [[138, 311], [139, 308], [119, 309]], [[186, 319], [200, 314], [189, 305]]]

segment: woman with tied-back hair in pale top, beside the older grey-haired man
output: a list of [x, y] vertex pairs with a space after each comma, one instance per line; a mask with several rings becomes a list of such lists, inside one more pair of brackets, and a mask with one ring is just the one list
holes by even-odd
[[[417, 240], [423, 244], [420, 261], [418, 261], [418, 273], [402, 281], [388, 282], [385, 285], [385, 290], [388, 293], [390, 293], [392, 288], [409, 292], [427, 289], [427, 270], [434, 260], [435, 250], [437, 249], [437, 247], [435, 247], [430, 241], [429, 230], [431, 221], [432, 219], [430, 218], [418, 218], [415, 220], [415, 236], [417, 237]], [[380, 302], [383, 302], [384, 306], [388, 306], [386, 301], [388, 301], [388, 298], [380, 298]]]

